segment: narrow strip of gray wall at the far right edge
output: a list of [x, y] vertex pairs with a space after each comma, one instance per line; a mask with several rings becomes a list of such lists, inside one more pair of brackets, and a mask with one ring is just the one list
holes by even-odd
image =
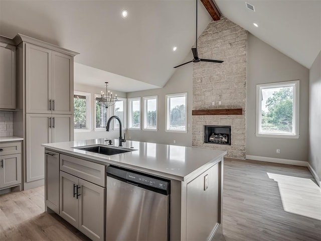
[[309, 80], [308, 161], [321, 180], [321, 51], [310, 68]]

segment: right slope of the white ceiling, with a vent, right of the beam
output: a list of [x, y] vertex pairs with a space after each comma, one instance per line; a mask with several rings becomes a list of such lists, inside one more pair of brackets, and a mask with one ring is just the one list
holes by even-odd
[[[215, 0], [229, 20], [306, 68], [321, 50], [320, 0]], [[259, 25], [258, 28], [253, 23]]]

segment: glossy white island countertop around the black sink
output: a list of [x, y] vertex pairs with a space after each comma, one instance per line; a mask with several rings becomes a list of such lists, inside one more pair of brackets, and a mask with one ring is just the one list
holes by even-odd
[[[53, 151], [73, 154], [79, 157], [93, 159], [101, 164], [114, 164], [138, 171], [168, 177], [180, 181], [188, 179], [192, 173], [201, 171], [205, 166], [220, 161], [226, 151], [163, 145], [146, 142], [126, 141], [123, 148], [133, 147], [135, 151], [106, 156], [103, 154], [87, 152], [73, 147], [89, 145], [107, 145], [105, 139], [93, 139], [74, 142], [60, 142], [42, 144], [43, 147]], [[113, 140], [111, 147], [118, 147], [118, 140]]]

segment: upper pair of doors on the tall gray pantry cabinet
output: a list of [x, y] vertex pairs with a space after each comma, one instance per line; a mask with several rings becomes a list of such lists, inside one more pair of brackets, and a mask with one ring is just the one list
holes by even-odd
[[26, 112], [72, 114], [73, 57], [26, 43]]

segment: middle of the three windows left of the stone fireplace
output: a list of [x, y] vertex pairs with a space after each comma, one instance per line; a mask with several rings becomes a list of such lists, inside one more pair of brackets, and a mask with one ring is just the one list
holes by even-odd
[[144, 130], [157, 131], [157, 96], [143, 97]]

